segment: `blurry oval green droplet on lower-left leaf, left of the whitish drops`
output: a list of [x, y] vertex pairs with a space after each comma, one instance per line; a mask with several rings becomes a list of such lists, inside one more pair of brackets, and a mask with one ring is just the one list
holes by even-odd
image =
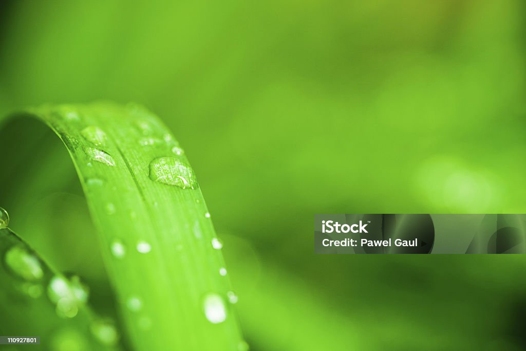
[[40, 260], [24, 246], [13, 246], [4, 260], [13, 273], [26, 280], [39, 280], [44, 276]]

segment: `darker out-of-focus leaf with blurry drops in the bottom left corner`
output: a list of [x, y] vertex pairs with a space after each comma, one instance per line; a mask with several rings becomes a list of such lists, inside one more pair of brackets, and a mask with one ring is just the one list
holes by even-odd
[[117, 349], [114, 323], [89, 310], [87, 290], [53, 272], [1, 223], [0, 255], [0, 335], [39, 336], [41, 345], [54, 350]]

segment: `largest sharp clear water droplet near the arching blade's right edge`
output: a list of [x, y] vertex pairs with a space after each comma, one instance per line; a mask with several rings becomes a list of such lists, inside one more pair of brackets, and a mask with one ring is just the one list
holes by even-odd
[[193, 169], [174, 157], [160, 157], [150, 163], [150, 178], [159, 183], [180, 188], [196, 188], [197, 179]]

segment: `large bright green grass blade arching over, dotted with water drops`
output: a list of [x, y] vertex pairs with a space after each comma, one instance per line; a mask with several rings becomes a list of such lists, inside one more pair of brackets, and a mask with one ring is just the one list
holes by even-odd
[[[12, 120], [26, 117], [45, 122], [67, 146], [133, 348], [244, 345], [228, 302], [222, 244], [193, 168], [159, 119], [111, 103], [44, 106]], [[23, 141], [24, 125], [8, 128], [6, 138]], [[29, 163], [31, 151], [23, 149], [13, 174], [24, 175]]]

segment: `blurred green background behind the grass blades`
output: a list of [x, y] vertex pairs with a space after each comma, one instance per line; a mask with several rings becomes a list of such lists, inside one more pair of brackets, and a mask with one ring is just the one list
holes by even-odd
[[[523, 256], [316, 256], [312, 223], [525, 213], [524, 35], [522, 0], [3, 1], [0, 115], [97, 99], [158, 114], [252, 350], [520, 350]], [[71, 173], [65, 151], [54, 167]], [[111, 309], [72, 182], [7, 208], [12, 227]]]

